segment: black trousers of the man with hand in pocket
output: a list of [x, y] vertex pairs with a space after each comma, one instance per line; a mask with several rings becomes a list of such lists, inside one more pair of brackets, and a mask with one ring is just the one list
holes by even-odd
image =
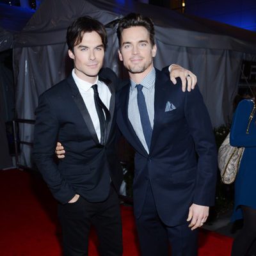
[[93, 225], [99, 238], [100, 255], [122, 255], [120, 204], [111, 186], [108, 199], [90, 203], [81, 196], [73, 204], [59, 205], [65, 256], [88, 255], [88, 237]]

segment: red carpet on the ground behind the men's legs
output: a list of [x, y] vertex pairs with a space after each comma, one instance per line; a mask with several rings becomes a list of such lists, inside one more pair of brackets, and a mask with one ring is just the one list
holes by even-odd
[[[56, 202], [37, 174], [19, 170], [0, 171], [0, 255], [61, 255]], [[124, 256], [137, 256], [132, 207], [122, 207]], [[94, 233], [89, 255], [97, 256]], [[213, 232], [200, 232], [199, 256], [228, 256], [232, 239]], [[157, 255], [156, 255], [157, 256]]]

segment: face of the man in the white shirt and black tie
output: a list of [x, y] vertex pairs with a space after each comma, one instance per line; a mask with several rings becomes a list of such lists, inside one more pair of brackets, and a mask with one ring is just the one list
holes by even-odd
[[68, 55], [74, 60], [76, 75], [84, 81], [94, 83], [104, 60], [100, 35], [95, 31], [84, 33], [81, 43], [74, 47], [74, 52], [68, 50]]

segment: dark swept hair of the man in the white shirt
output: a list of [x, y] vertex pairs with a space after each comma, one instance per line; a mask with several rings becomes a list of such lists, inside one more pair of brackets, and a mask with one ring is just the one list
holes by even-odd
[[107, 31], [99, 20], [95, 20], [90, 16], [79, 17], [68, 27], [66, 36], [68, 49], [73, 52], [74, 47], [83, 40], [84, 33], [93, 31], [99, 34], [104, 50], [106, 50], [108, 44]]

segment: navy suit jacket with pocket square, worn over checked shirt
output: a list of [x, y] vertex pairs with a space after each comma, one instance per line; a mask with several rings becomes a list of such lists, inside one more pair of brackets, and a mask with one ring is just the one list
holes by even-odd
[[[189, 206], [213, 205], [216, 145], [212, 125], [198, 87], [182, 92], [170, 77], [156, 70], [154, 129], [147, 154], [128, 119], [130, 84], [116, 97], [116, 120], [135, 156], [134, 213], [140, 217], [148, 182], [157, 212], [166, 225], [186, 223]], [[176, 109], [165, 111], [167, 102]]]

